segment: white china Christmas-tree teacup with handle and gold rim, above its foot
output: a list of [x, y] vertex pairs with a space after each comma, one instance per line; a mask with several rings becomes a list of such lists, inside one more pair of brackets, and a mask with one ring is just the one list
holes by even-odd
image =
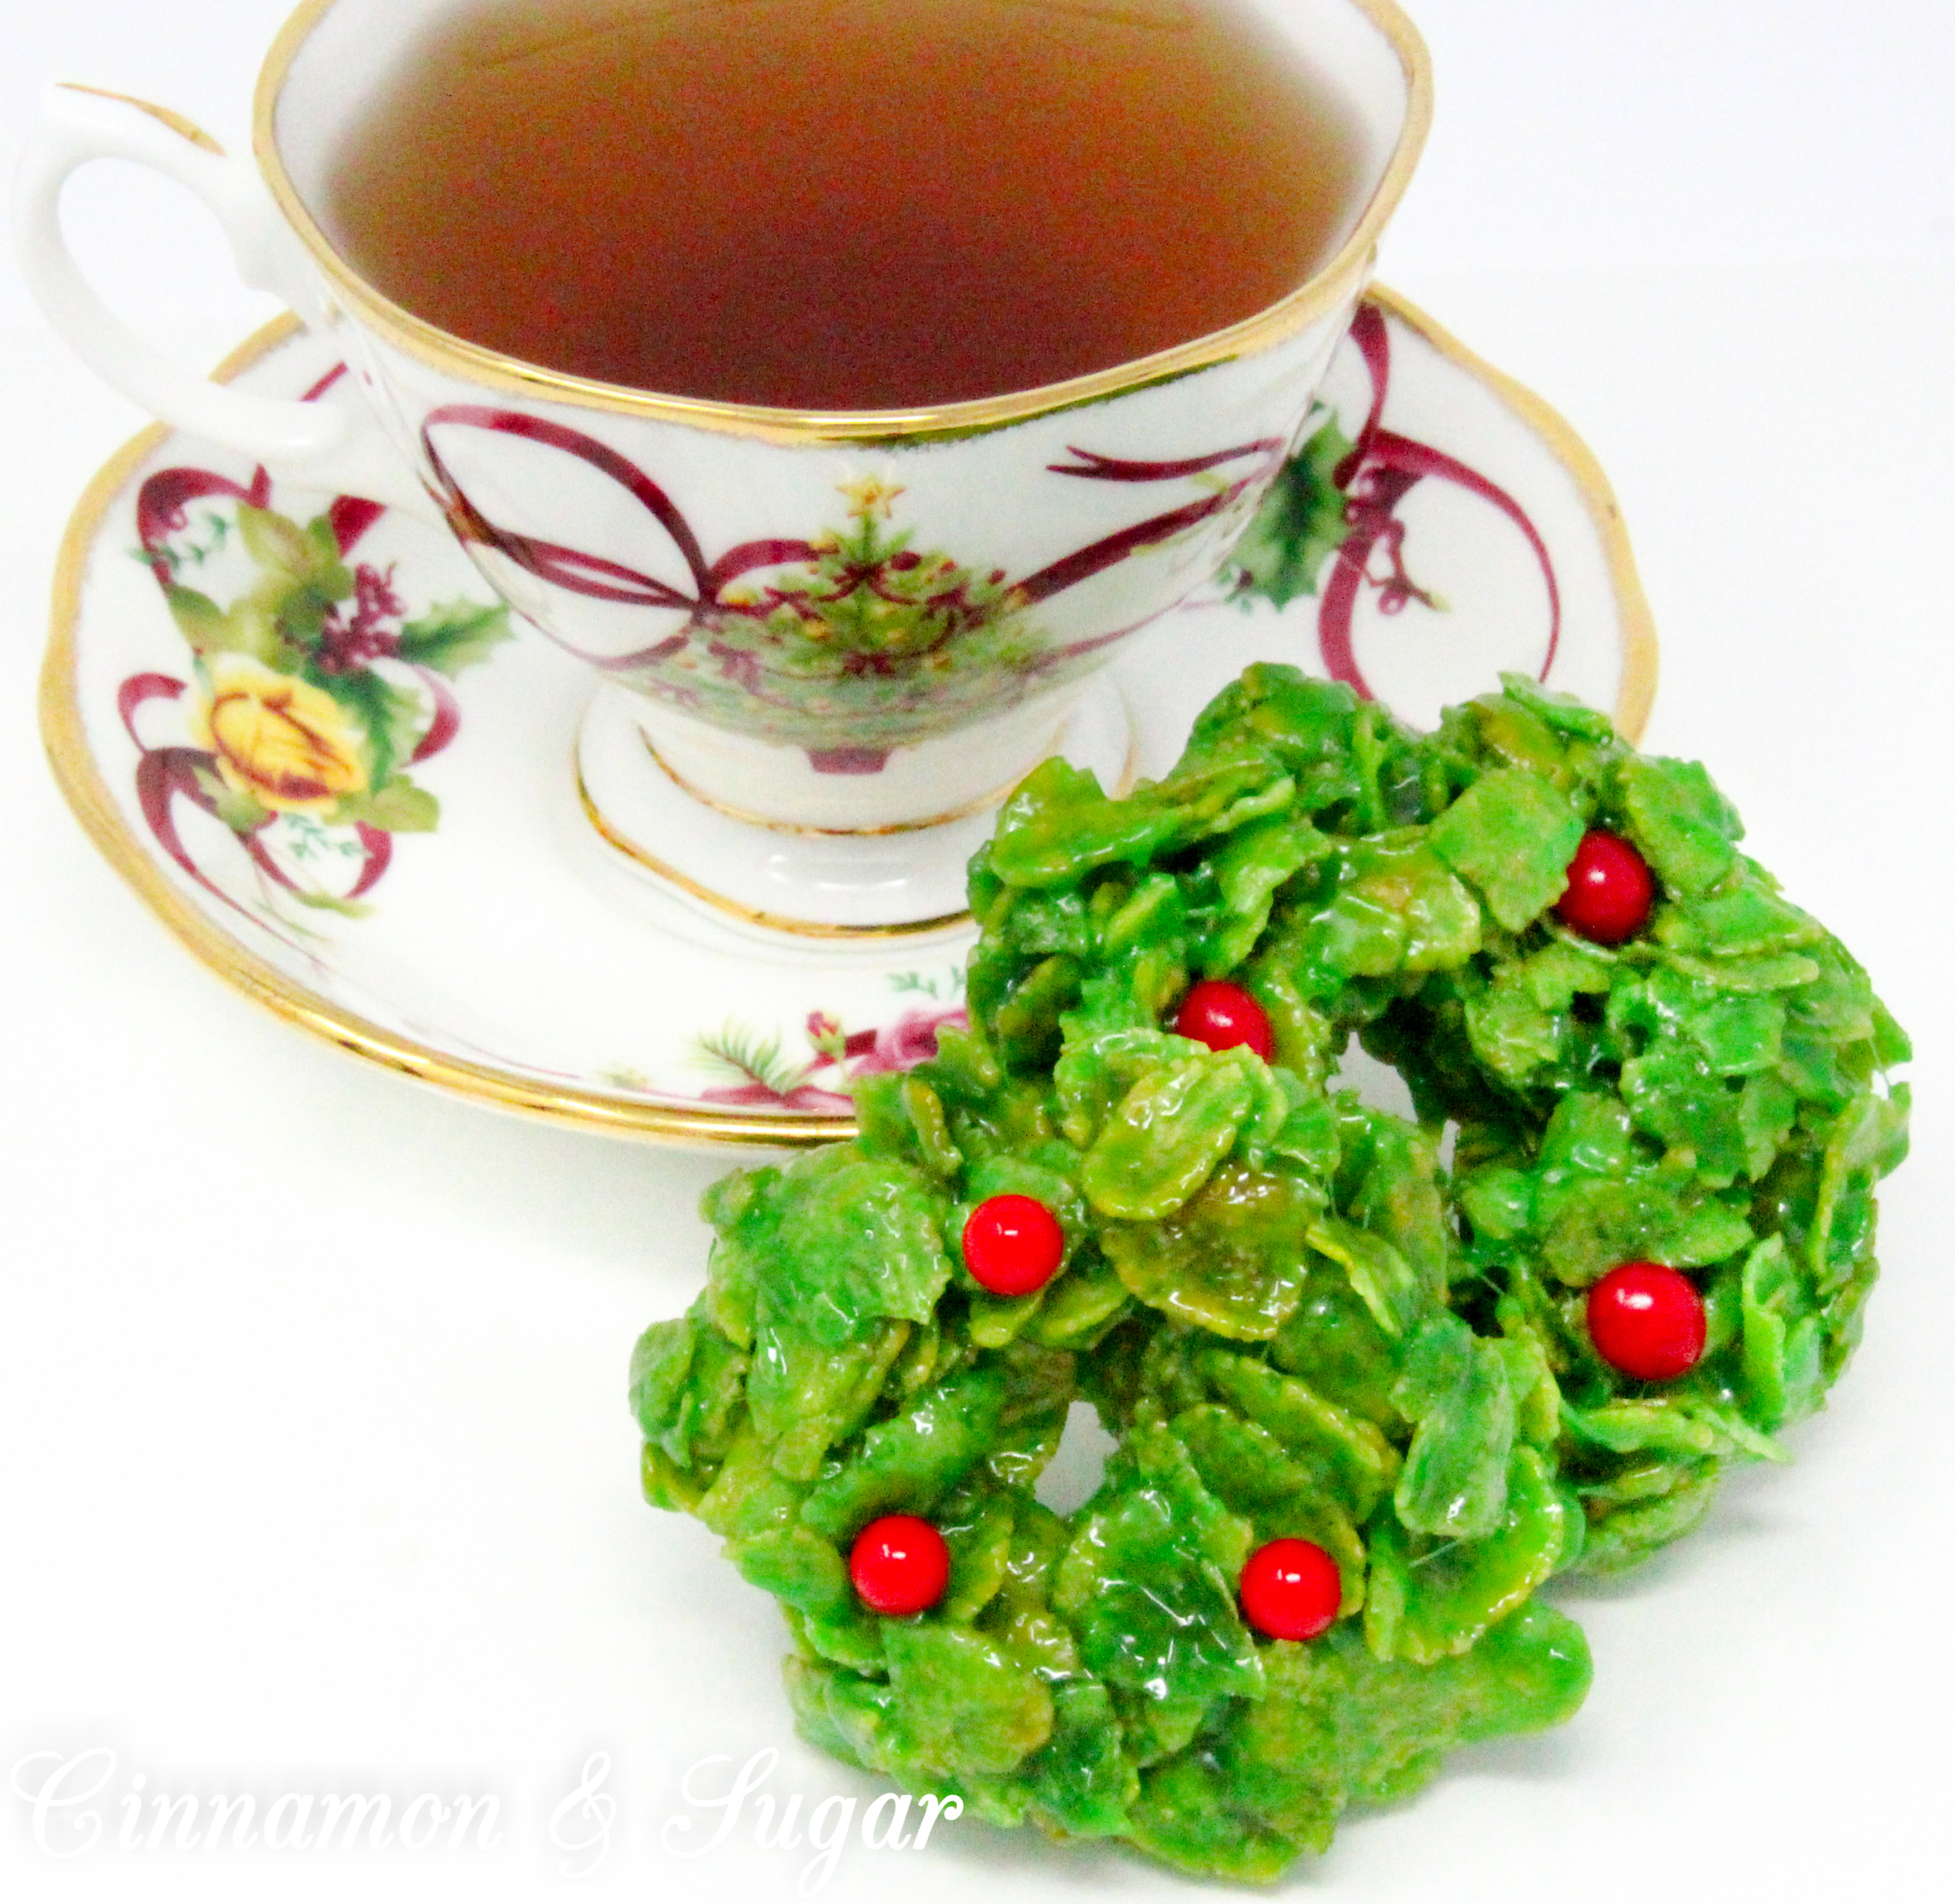
[[[454, 4], [303, 6], [260, 76], [252, 158], [162, 108], [53, 88], [18, 182], [25, 278], [152, 414], [278, 479], [444, 522], [518, 614], [626, 692], [673, 778], [802, 829], [919, 827], [999, 798], [1052, 749], [1087, 676], [1216, 573], [1298, 438], [1431, 113], [1425, 49], [1392, 0], [1253, 0], [1355, 121], [1353, 209], [1306, 283], [1226, 330], [1040, 389], [759, 409], [485, 350], [334, 252], [319, 215], [334, 154]], [[201, 197], [240, 274], [330, 338], [364, 407], [248, 395], [151, 352], [61, 237], [63, 182], [92, 158]], [[1214, 180], [1218, 207], [1228, 190]], [[823, 626], [837, 559], [888, 569], [891, 618], [931, 565], [956, 614], [921, 643], [893, 624]]]

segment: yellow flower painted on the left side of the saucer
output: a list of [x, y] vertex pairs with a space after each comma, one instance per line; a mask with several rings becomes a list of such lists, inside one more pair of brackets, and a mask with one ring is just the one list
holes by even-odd
[[323, 688], [250, 655], [211, 655], [192, 737], [225, 784], [274, 813], [326, 813], [368, 784], [366, 731]]

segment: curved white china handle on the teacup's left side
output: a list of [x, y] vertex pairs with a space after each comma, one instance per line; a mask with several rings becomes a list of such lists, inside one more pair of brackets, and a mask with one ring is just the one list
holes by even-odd
[[61, 229], [61, 190], [92, 158], [129, 158], [188, 186], [217, 215], [239, 276], [311, 319], [317, 303], [289, 268], [289, 237], [256, 168], [162, 106], [88, 86], [51, 86], [22, 154], [14, 231], [22, 276], [55, 328], [106, 383], [151, 416], [239, 450], [287, 477], [440, 520], [401, 454], [364, 411], [252, 397], [184, 369], [145, 344], [96, 295]]

